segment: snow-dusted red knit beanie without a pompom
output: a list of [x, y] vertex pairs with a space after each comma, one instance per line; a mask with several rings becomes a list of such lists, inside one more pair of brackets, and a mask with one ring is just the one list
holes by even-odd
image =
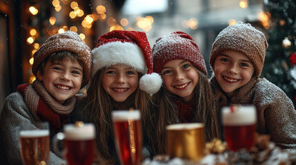
[[197, 69], [207, 75], [206, 63], [199, 52], [197, 43], [184, 32], [173, 32], [159, 37], [153, 46], [152, 58], [154, 70], [159, 74], [161, 68], [168, 61], [182, 59], [190, 61]]

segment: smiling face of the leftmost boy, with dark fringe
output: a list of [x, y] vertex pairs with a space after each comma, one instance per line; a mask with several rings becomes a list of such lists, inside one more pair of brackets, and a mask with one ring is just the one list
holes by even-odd
[[82, 79], [83, 68], [77, 59], [74, 61], [66, 58], [63, 61], [48, 61], [44, 67], [44, 73], [37, 71], [40, 80], [48, 93], [59, 104], [63, 104], [68, 98], [78, 93]]

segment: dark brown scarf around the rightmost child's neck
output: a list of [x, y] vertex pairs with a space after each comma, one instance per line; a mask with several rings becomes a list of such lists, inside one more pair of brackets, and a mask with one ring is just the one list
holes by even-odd
[[258, 81], [259, 78], [253, 76], [246, 85], [236, 89], [235, 94], [231, 98], [228, 98], [226, 93], [221, 89], [215, 77], [210, 80], [210, 83], [212, 83], [214, 87], [219, 109], [221, 109], [230, 104], [252, 104], [256, 89], [255, 84]]

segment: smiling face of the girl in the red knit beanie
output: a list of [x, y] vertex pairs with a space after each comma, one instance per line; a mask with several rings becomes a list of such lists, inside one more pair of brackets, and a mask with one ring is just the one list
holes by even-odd
[[194, 96], [193, 90], [198, 84], [199, 74], [189, 61], [172, 60], [162, 67], [161, 78], [168, 91], [180, 96], [184, 102], [189, 102]]

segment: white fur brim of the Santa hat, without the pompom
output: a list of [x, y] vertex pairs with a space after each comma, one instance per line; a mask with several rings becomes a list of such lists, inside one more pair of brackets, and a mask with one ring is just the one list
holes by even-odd
[[92, 50], [92, 77], [99, 69], [117, 64], [128, 65], [142, 74], [147, 73], [144, 54], [135, 43], [115, 41]]

